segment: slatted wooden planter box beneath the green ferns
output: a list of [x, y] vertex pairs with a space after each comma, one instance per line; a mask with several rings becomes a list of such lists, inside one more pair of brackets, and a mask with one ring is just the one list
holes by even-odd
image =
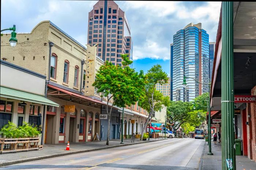
[[[33, 143], [33, 144], [32, 144]], [[28, 151], [28, 150], [38, 150], [39, 138], [0, 138], [1, 150], [0, 154], [5, 152], [18, 152], [18, 151]], [[3, 150], [4, 145], [10, 144], [11, 147], [8, 150]], [[22, 147], [19, 148], [19, 144]]]

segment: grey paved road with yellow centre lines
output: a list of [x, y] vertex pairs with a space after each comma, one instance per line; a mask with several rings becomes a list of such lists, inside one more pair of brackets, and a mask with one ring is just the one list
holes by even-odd
[[0, 169], [51, 170], [195, 170], [199, 168], [204, 140], [168, 139], [106, 150], [19, 163]]

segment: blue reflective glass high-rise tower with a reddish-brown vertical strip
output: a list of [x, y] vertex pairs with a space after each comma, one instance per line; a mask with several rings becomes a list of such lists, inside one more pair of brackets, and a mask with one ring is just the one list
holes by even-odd
[[208, 92], [208, 85], [202, 85], [188, 78], [182, 86], [183, 77], [192, 77], [204, 83], [209, 82], [209, 35], [202, 24], [190, 23], [173, 35], [173, 101], [192, 101]]

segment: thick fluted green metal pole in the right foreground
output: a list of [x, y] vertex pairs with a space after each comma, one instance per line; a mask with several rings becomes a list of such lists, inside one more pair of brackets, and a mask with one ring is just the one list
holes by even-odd
[[222, 1], [222, 57], [221, 57], [221, 132], [222, 170], [227, 162], [236, 169], [234, 150], [234, 56], [233, 2]]

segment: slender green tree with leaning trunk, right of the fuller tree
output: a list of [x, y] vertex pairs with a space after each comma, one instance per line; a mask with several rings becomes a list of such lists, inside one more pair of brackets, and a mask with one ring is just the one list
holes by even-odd
[[146, 74], [146, 85], [145, 85], [145, 95], [139, 100], [139, 105], [146, 109], [149, 113], [146, 122], [143, 125], [142, 135], [140, 140], [143, 138], [143, 133], [147, 127], [147, 124], [151, 121], [153, 113], [159, 111], [162, 105], [169, 105], [169, 97], [164, 97], [162, 93], [155, 90], [157, 83], [165, 84], [167, 83], [167, 74], [163, 72], [161, 65], [157, 64], [151, 67]]

